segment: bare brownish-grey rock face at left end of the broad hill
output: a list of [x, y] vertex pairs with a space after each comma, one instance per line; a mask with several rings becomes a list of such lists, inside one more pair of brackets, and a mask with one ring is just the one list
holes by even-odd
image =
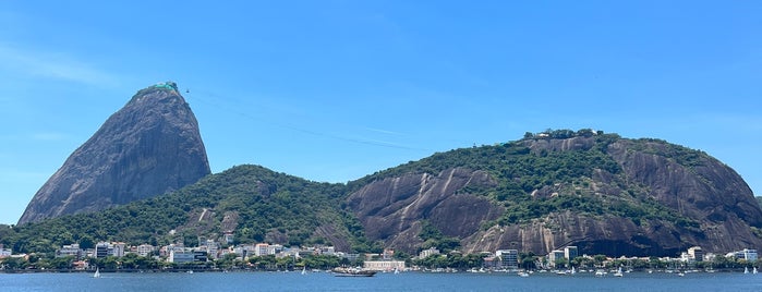
[[485, 197], [460, 192], [467, 186], [495, 186], [484, 171], [453, 168], [437, 175], [406, 174], [373, 182], [348, 198], [372, 240], [385, 246], [414, 251], [422, 221], [426, 220], [445, 235], [465, 238], [485, 220], [503, 210]]

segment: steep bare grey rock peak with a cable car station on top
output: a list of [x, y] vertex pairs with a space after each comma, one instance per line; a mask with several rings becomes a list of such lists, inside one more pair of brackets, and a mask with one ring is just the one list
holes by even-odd
[[177, 191], [210, 173], [198, 123], [174, 83], [142, 89], [43, 185], [19, 224]]

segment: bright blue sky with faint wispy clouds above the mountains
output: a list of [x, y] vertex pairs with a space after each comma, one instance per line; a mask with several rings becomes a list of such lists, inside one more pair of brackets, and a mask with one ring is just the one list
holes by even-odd
[[762, 194], [761, 1], [221, 2], [0, 1], [0, 223], [169, 80], [213, 172], [347, 182], [591, 127], [704, 150]]

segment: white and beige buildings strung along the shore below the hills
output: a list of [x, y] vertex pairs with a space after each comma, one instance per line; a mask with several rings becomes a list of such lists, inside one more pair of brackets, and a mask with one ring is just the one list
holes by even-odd
[[[336, 252], [334, 246], [285, 247], [280, 244], [257, 243], [221, 248], [219, 243], [215, 242], [214, 240], [206, 240], [204, 238], [198, 240], [198, 246], [195, 247], [185, 247], [183, 244], [170, 244], [157, 247], [148, 244], [135, 246], [128, 245], [122, 242], [98, 242], [93, 248], [81, 248], [78, 244], [71, 244], [61, 246], [61, 248], [56, 252], [56, 256], [72, 256], [76, 259], [76, 261], [74, 261], [75, 268], [86, 269], [88, 265], [87, 260], [85, 260], [86, 258], [105, 258], [109, 256], [123, 257], [131, 253], [140, 256], [165, 258], [168, 263], [176, 264], [204, 263], [209, 259], [226, 257], [229, 254], [234, 254], [240, 258], [267, 255], [273, 255], [278, 258], [301, 258], [311, 255], [329, 255], [347, 258], [350, 261], [356, 261], [358, 259], [361, 259], [361, 256], [363, 256], [360, 254]], [[437, 248], [432, 247], [421, 251], [415, 258], [424, 259], [436, 255], [440, 255], [440, 252]], [[23, 255], [12, 255], [10, 248], [4, 248], [2, 245], [0, 245], [0, 258], [11, 256]], [[553, 269], [556, 268], [557, 263], [563, 261], [560, 259], [566, 259], [567, 263], [570, 263], [572, 259], [579, 256], [590, 257], [588, 255], [579, 255], [577, 246], [566, 246], [564, 248], [552, 251], [544, 257], [544, 260], [537, 260], [535, 266], [544, 269]], [[660, 260], [693, 264], [696, 261], [712, 261], [715, 257], [715, 254], [704, 253], [701, 247], [693, 246], [684, 252], [678, 258], [664, 257], [660, 258]], [[757, 250], [745, 248], [742, 251], [727, 253], [725, 257], [755, 261], [758, 259], [758, 254]], [[383, 254], [378, 255], [364, 255], [362, 259], [364, 260], [364, 268], [370, 270], [389, 271], [406, 269], [404, 260], [394, 259], [392, 250], [385, 250]], [[519, 269], [519, 259], [520, 256], [518, 250], [499, 250], [494, 253], [485, 253], [483, 257], [483, 268]], [[650, 258], [622, 257], [620, 259], [649, 260]]]

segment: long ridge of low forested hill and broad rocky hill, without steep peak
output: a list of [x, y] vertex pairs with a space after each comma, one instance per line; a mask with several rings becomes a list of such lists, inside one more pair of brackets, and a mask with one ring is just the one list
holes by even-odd
[[[0, 232], [14, 251], [96, 240], [166, 244], [326, 243], [339, 251], [674, 256], [762, 248], [762, 210], [743, 180], [705, 153], [591, 130], [438, 153], [348, 184], [234, 167], [179, 192]], [[173, 231], [172, 231], [173, 230]], [[3, 235], [4, 234], [4, 235]]]

